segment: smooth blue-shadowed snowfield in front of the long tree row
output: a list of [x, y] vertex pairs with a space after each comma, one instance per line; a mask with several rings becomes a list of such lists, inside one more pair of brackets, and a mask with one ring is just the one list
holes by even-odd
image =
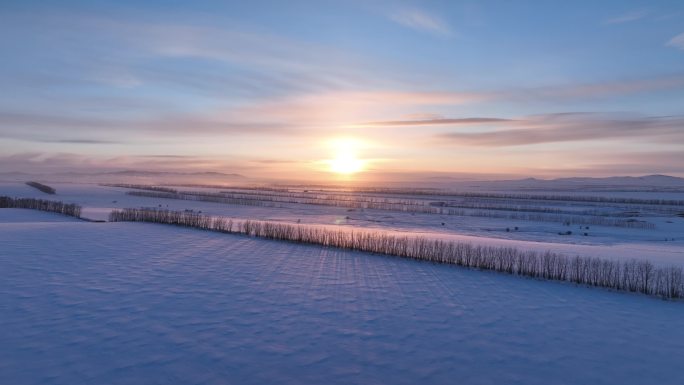
[[2, 384], [681, 384], [680, 302], [0, 210]]

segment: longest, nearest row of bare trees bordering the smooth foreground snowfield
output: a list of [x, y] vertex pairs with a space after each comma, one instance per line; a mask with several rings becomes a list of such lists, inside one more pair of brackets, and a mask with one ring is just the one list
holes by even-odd
[[370, 231], [266, 221], [233, 221], [168, 210], [115, 210], [110, 214], [109, 220], [172, 224], [566, 281], [663, 298], [684, 297], [682, 268], [656, 267], [647, 260], [620, 261], [595, 257], [568, 257], [552, 252], [537, 253], [510, 247], [474, 246], [462, 242]]

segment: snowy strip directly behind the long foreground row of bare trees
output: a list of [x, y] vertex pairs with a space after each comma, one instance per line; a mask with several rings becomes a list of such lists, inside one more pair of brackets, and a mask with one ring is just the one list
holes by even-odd
[[[78, 203], [87, 218], [104, 220], [111, 210], [126, 207], [161, 207], [170, 210], [192, 209], [205, 214], [236, 219], [258, 219], [335, 226], [349, 229], [374, 229], [401, 232], [429, 238], [451, 239], [473, 244], [512, 246], [522, 249], [603, 258], [641, 258], [661, 265], [684, 265], [684, 218], [653, 216], [645, 218], [655, 229], [628, 229], [590, 226], [582, 236], [579, 226], [457, 215], [411, 214], [395, 211], [344, 207], [282, 204], [284, 207], [255, 207], [200, 201], [159, 199], [126, 195], [124, 188], [96, 184], [51, 184], [57, 195], [46, 195], [20, 182], [0, 183], [0, 195], [35, 197]], [[186, 188], [187, 189], [187, 188]], [[195, 189], [196, 190], [196, 189]], [[556, 192], [556, 194], [564, 194]], [[637, 198], [660, 199], [657, 193], [641, 193]], [[672, 195], [672, 194], [671, 194]], [[684, 194], [668, 199], [684, 199]], [[555, 202], [551, 202], [555, 204]], [[641, 218], [640, 218], [641, 219]], [[443, 225], [442, 225], [443, 224]], [[506, 231], [515, 229], [517, 231]], [[572, 230], [572, 236], [559, 232]]]

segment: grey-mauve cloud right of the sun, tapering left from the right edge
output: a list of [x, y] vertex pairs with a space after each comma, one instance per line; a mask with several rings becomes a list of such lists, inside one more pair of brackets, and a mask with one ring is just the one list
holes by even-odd
[[615, 117], [603, 114], [549, 114], [518, 119], [504, 129], [436, 136], [464, 146], [506, 147], [600, 139], [641, 138], [684, 144], [684, 116]]

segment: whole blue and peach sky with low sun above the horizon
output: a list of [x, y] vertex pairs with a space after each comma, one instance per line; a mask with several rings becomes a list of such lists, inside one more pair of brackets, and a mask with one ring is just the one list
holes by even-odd
[[0, 8], [0, 172], [684, 176], [681, 0]]

